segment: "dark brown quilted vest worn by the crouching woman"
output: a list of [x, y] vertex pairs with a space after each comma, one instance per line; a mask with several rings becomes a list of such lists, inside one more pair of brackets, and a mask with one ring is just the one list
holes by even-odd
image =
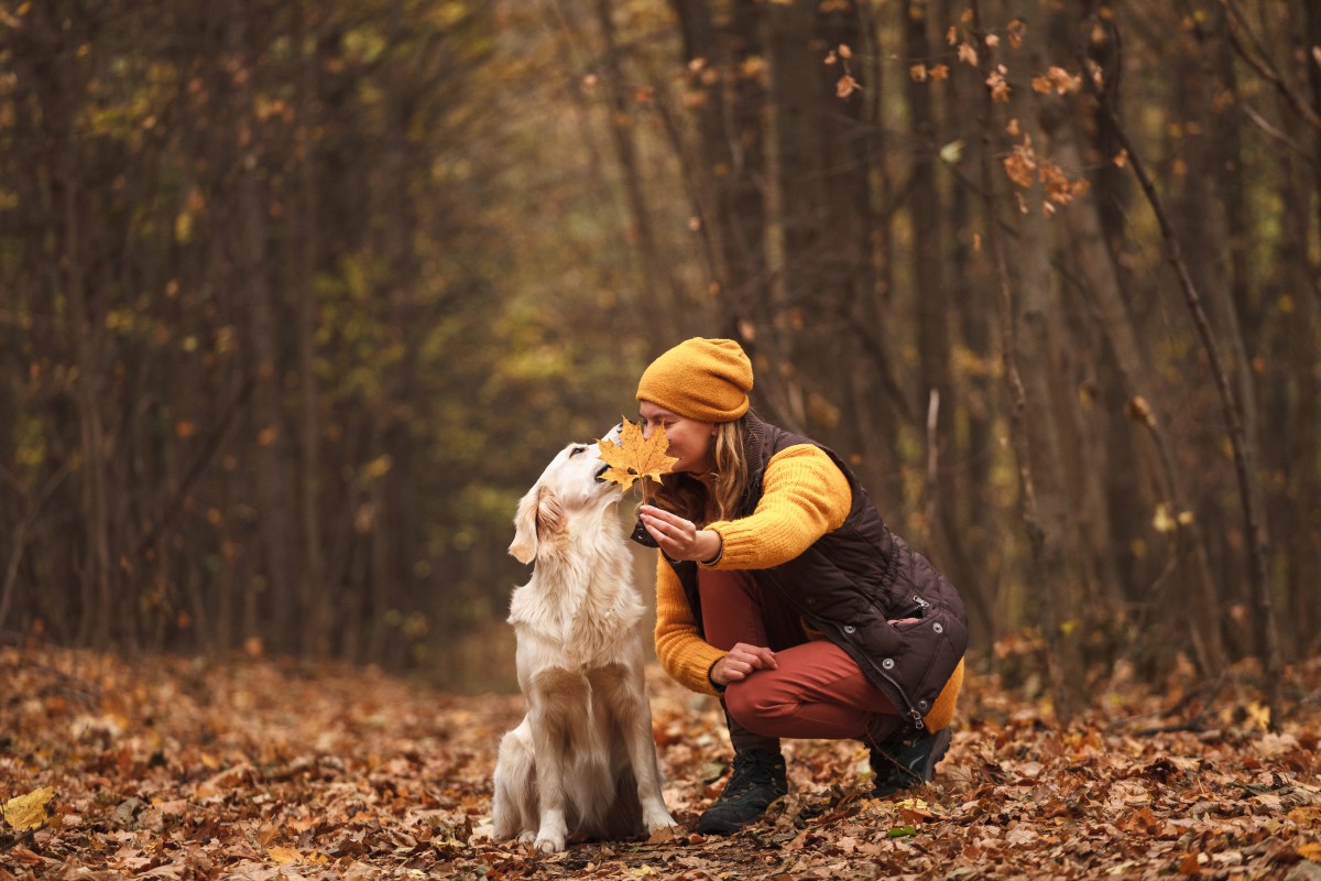
[[[799, 556], [753, 577], [774, 589], [804, 622], [843, 649], [863, 674], [906, 713], [914, 726], [931, 709], [968, 645], [963, 600], [926, 557], [881, 520], [867, 490], [844, 462], [816, 441], [745, 416], [748, 491], [737, 516], [761, 501], [766, 462], [789, 448], [811, 444], [848, 478], [853, 505], [843, 526], [827, 532]], [[697, 626], [701, 608], [695, 563], [670, 561], [683, 581]], [[915, 623], [890, 625], [900, 618]]]

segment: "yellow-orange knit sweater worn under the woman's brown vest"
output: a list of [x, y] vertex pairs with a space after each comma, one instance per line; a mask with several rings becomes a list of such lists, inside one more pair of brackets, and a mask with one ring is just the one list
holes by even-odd
[[[820, 448], [789, 446], [766, 464], [756, 511], [705, 526], [720, 534], [721, 553], [712, 568], [765, 569], [793, 560], [816, 539], [843, 526], [852, 503], [848, 479]], [[727, 652], [701, 638], [683, 585], [660, 553], [657, 555], [655, 646], [660, 666], [680, 684], [716, 693], [708, 674]], [[950, 724], [962, 684], [960, 660], [926, 715], [930, 730]]]

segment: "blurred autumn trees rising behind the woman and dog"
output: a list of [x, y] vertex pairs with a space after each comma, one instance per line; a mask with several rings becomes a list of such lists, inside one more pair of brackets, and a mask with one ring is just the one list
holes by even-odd
[[701, 334], [1065, 711], [1317, 650], [1314, 4], [194, 5], [0, 3], [4, 639], [499, 683]]

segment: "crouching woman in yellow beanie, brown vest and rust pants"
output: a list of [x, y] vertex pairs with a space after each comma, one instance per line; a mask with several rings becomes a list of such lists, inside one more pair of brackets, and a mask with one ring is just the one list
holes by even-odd
[[877, 796], [930, 781], [967, 647], [948, 581], [832, 452], [750, 412], [752, 384], [737, 342], [692, 338], [646, 369], [637, 395], [643, 435], [663, 425], [678, 457], [638, 509], [635, 536], [662, 551], [657, 655], [720, 697], [734, 748], [697, 820], [707, 835], [787, 791], [781, 737], [863, 740]]

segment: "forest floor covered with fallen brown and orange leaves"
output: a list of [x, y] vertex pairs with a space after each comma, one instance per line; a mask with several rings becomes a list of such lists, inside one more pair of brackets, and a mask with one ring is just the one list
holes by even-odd
[[732, 837], [692, 832], [727, 770], [716, 707], [657, 670], [649, 691], [679, 829], [542, 856], [489, 836], [518, 696], [0, 649], [0, 881], [1321, 880], [1317, 662], [1291, 671], [1279, 732], [1235, 684], [1107, 687], [1059, 726], [972, 676], [934, 783], [872, 799], [859, 744], [787, 742], [790, 795]]

